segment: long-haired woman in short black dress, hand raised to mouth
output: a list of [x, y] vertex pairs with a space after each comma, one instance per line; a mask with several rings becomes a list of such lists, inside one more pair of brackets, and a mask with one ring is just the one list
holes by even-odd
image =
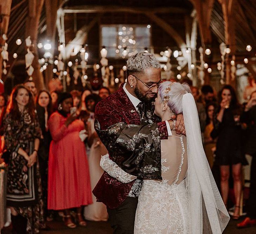
[[216, 143], [216, 163], [221, 172], [221, 194], [227, 206], [229, 191], [229, 173], [232, 169], [235, 192], [235, 211], [233, 219], [239, 219], [240, 198], [242, 190], [241, 167], [246, 164], [241, 144], [240, 115], [241, 106], [238, 104], [235, 90], [225, 85], [219, 92], [219, 107], [214, 119], [214, 130], [211, 137]]

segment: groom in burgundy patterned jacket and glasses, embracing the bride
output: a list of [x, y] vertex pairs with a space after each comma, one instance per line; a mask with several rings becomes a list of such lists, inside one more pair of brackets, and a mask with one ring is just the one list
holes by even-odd
[[[95, 109], [95, 129], [110, 158], [129, 174], [144, 179], [162, 179], [160, 140], [171, 129], [184, 131], [183, 117], [156, 122], [152, 101], [161, 82], [160, 63], [149, 53], [127, 60], [127, 83], [100, 101]], [[184, 132], [183, 132], [184, 133]], [[97, 201], [107, 206], [114, 233], [133, 233], [142, 180], [122, 183], [106, 172], [93, 190]]]

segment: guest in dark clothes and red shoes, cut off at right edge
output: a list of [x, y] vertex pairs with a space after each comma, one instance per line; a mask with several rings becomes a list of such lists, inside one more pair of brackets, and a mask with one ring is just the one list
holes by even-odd
[[251, 98], [241, 116], [241, 121], [247, 124], [245, 152], [252, 156], [252, 161], [247, 215], [242, 222], [237, 224], [238, 228], [256, 225], [256, 91], [251, 94]]

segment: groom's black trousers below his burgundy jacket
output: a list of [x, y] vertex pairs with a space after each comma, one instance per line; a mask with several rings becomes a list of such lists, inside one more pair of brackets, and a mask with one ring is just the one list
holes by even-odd
[[127, 197], [116, 209], [107, 208], [110, 225], [115, 234], [133, 234], [138, 198]]

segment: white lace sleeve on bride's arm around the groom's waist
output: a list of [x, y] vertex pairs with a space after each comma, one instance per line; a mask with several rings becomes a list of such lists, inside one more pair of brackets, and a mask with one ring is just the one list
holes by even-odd
[[101, 157], [100, 166], [105, 172], [122, 183], [129, 183], [137, 178], [137, 176], [130, 175], [118, 167], [117, 164], [109, 158], [109, 154]]

